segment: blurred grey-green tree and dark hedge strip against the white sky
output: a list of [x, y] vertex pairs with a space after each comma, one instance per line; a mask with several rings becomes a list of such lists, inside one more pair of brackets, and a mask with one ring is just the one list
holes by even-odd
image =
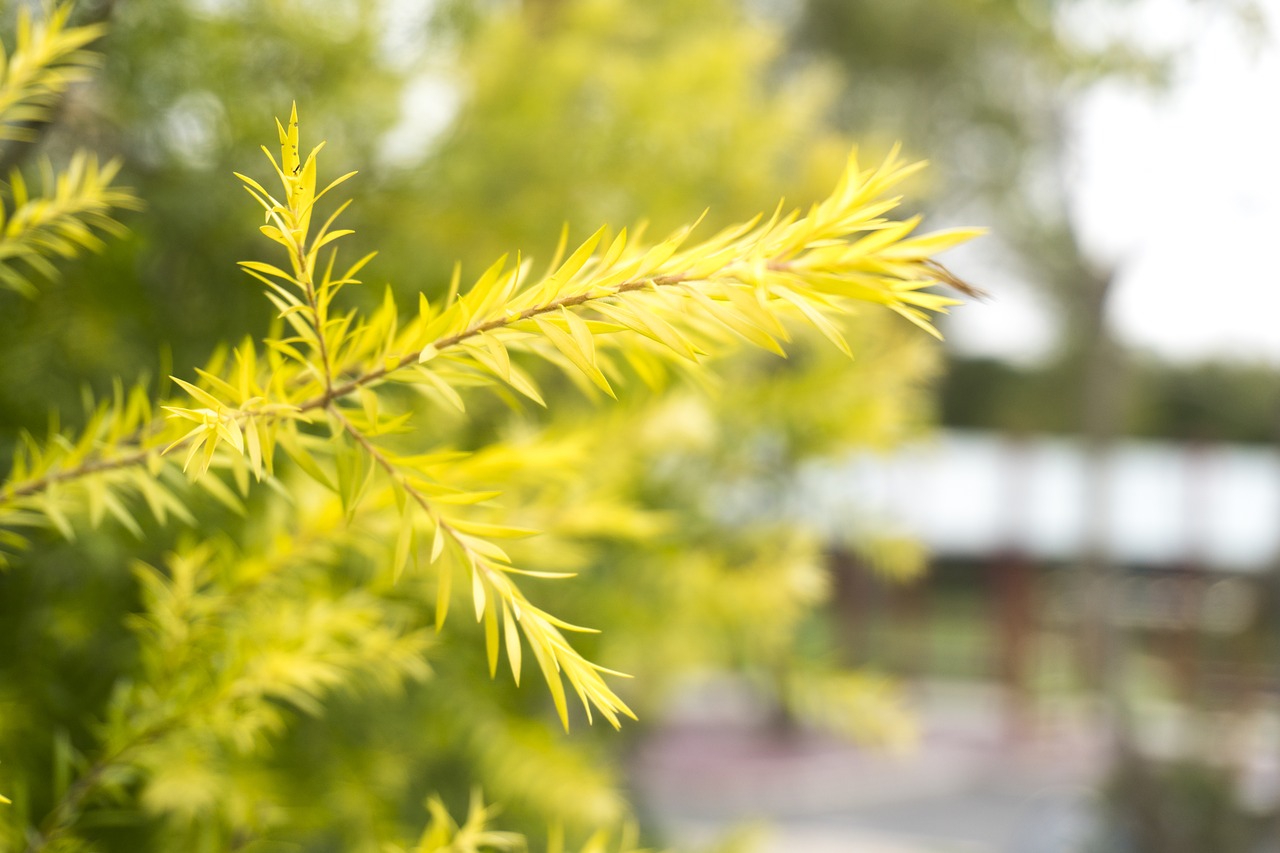
[[[1233, 19], [1243, 41], [1263, 28], [1252, 0], [1199, 5], [1202, 18]], [[1056, 345], [1032, 364], [952, 350], [941, 383], [942, 423], [1079, 432], [1083, 420], [1098, 418], [1085, 414], [1096, 406], [1087, 400], [1098, 393], [1085, 384], [1101, 351], [1111, 361], [1094, 365], [1094, 374], [1119, 373], [1123, 382], [1123, 394], [1103, 391], [1116, 397], [1114, 415], [1102, 416], [1115, 421], [1117, 433], [1270, 437], [1280, 397], [1274, 383], [1258, 380], [1256, 368], [1176, 366], [1137, 352], [1124, 368], [1112, 364], [1115, 355], [1105, 355], [1114, 270], [1098, 247], [1084, 245], [1073, 215], [1079, 104], [1101, 85], [1157, 91], [1176, 74], [1180, 56], [1132, 32], [1088, 32], [1082, 22], [1097, 23], [1102, 15], [1093, 9], [1089, 17], [1087, 6], [1069, 0], [808, 0], [794, 8], [796, 53], [832, 59], [845, 78], [836, 127], [856, 138], [908, 140], [927, 152], [938, 167], [932, 187], [937, 214], [991, 223], [993, 238], [977, 250], [983, 266], [1038, 288], [1055, 315]], [[1230, 387], [1244, 393], [1211, 391], [1199, 378], [1207, 374], [1225, 383], [1216, 384], [1219, 392]], [[1170, 393], [1184, 403], [1197, 398], [1192, 405], [1201, 416], [1193, 424], [1176, 418]]]

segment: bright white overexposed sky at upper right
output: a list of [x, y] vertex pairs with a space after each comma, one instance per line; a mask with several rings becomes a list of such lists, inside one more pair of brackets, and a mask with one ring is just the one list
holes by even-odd
[[[1262, 38], [1217, 0], [1117, 5], [1085, 4], [1070, 23], [1176, 49], [1178, 68], [1167, 92], [1107, 85], [1076, 113], [1074, 213], [1119, 270], [1114, 328], [1171, 360], [1280, 365], [1280, 0], [1258, 4]], [[957, 347], [1042, 355], [1043, 302], [1016, 282], [992, 289], [955, 318]]]

